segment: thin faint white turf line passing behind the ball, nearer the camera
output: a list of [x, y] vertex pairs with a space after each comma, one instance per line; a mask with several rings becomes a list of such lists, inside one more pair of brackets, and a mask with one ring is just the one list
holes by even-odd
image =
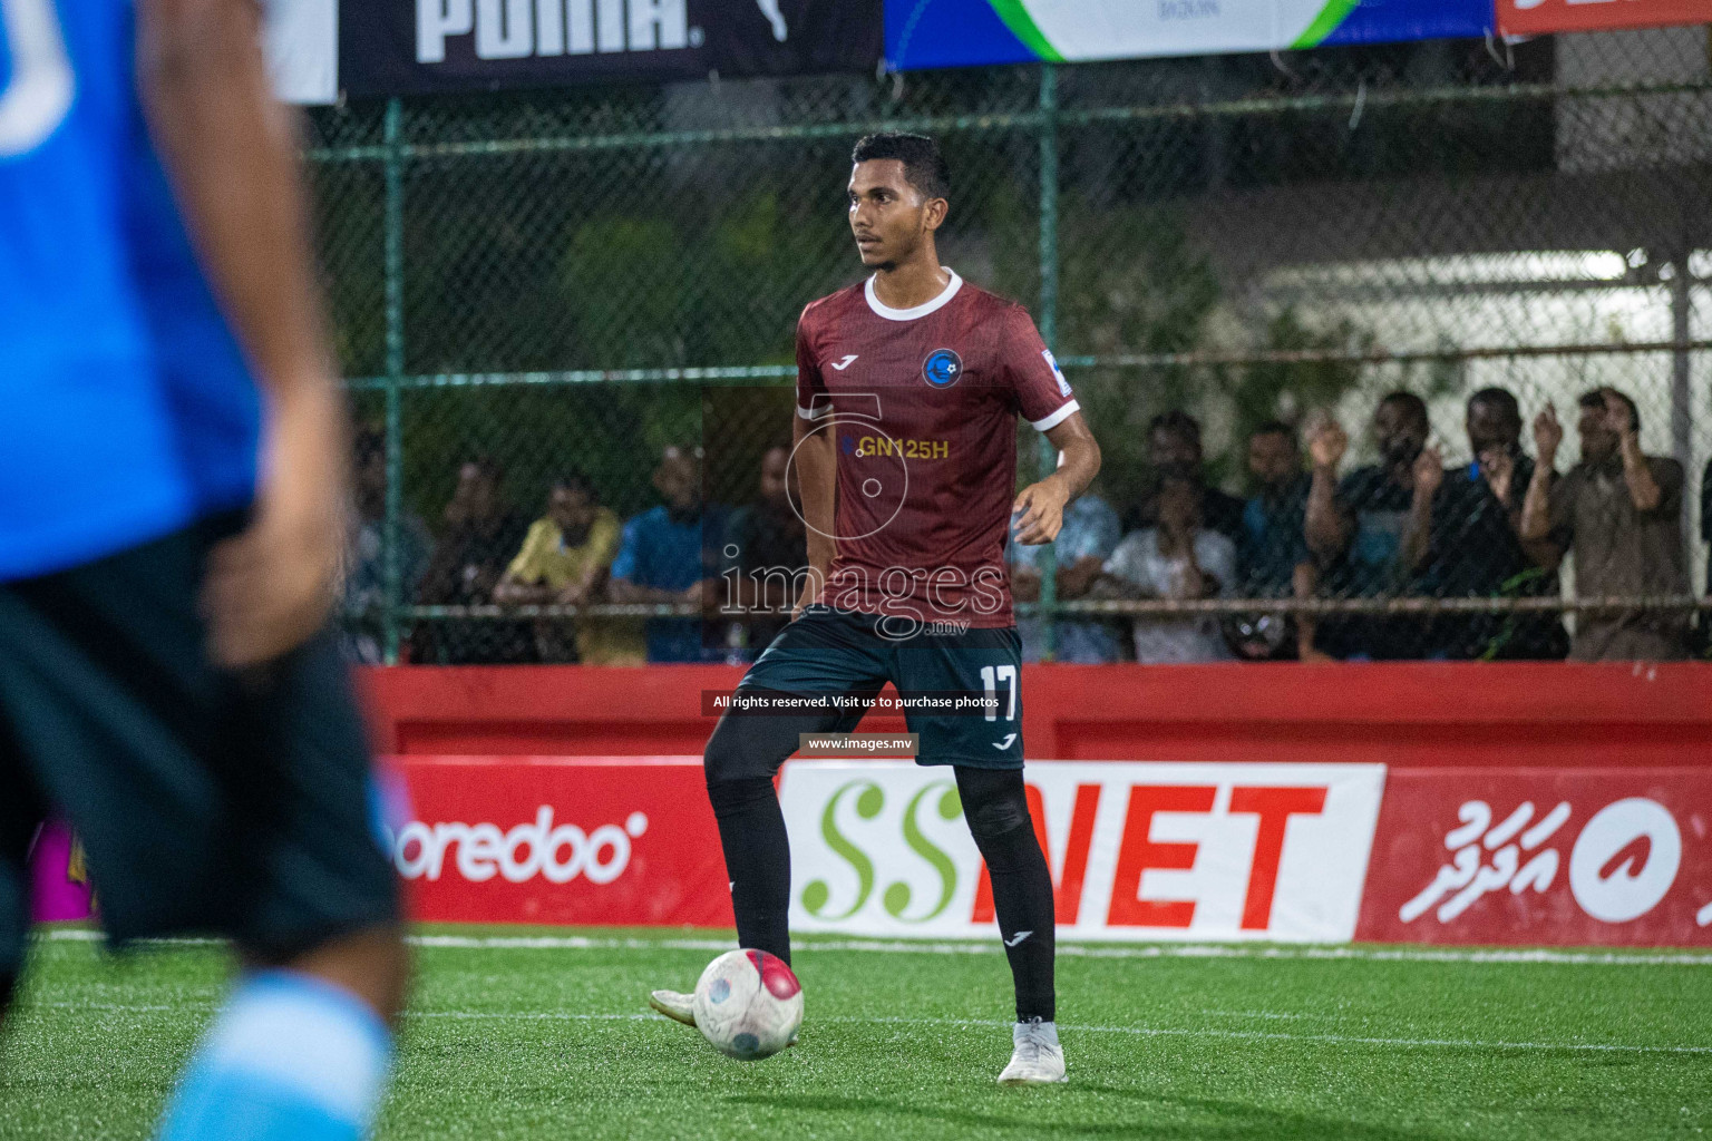
[[[53, 1009], [99, 1009], [103, 1013], [207, 1011], [212, 1006], [122, 1006], [113, 1002], [33, 1002]], [[582, 1014], [572, 1011], [406, 1011], [406, 1018], [452, 1018], [461, 1021], [669, 1021], [654, 1013]], [[817, 1021], [858, 1026], [978, 1026], [1008, 1030], [1012, 1023], [988, 1018], [822, 1018]], [[1628, 1045], [1623, 1042], [1483, 1042], [1479, 1038], [1378, 1038], [1342, 1033], [1287, 1033], [1282, 1030], [1209, 1030], [1190, 1026], [1079, 1026], [1072, 1033], [1121, 1033], [1137, 1038], [1226, 1038], [1236, 1042], [1323, 1042], [1327, 1045], [1388, 1045], [1450, 1050], [1570, 1050], [1584, 1054], [1712, 1054], [1712, 1045]]]

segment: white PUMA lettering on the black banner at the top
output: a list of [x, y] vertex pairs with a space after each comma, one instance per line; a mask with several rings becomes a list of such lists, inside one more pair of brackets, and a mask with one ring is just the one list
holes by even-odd
[[418, 63], [445, 63], [445, 41], [471, 33], [478, 60], [702, 46], [685, 0], [416, 0]]

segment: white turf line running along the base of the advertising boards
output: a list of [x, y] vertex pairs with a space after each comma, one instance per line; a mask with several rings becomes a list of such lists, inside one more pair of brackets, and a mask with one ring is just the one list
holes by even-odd
[[[94, 943], [98, 931], [48, 931], [41, 937], [65, 943]], [[466, 951], [729, 951], [731, 939], [601, 939], [589, 936], [407, 936], [418, 948]], [[211, 946], [219, 939], [156, 939], [169, 946]], [[803, 941], [798, 951], [866, 951], [875, 955], [998, 955], [998, 943], [892, 943], [870, 939]], [[1238, 958], [1238, 960], [1354, 960], [1370, 963], [1549, 963], [1570, 967], [1712, 967], [1712, 953], [1669, 951], [1635, 955], [1625, 951], [1553, 949], [1457, 949], [1457, 948], [1364, 948], [1364, 946], [1245, 946], [1198, 943], [1150, 943], [1137, 946], [1060, 943], [1063, 958]]]

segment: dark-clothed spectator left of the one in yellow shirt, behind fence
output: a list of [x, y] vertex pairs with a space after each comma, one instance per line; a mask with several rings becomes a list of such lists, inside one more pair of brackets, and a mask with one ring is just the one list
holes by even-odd
[[[457, 469], [457, 488], [445, 505], [440, 539], [418, 602], [423, 606], [490, 606], [493, 587], [527, 532], [524, 518], [505, 503], [500, 465], [479, 457]], [[488, 618], [437, 618], [418, 626], [413, 640], [419, 662], [433, 665], [507, 665], [534, 660], [527, 623]]]

